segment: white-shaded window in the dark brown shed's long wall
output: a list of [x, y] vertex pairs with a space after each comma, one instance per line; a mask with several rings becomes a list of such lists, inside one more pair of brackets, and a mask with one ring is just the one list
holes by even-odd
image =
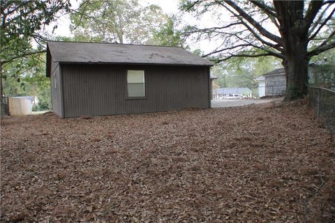
[[128, 70], [128, 97], [145, 97], [144, 70]]

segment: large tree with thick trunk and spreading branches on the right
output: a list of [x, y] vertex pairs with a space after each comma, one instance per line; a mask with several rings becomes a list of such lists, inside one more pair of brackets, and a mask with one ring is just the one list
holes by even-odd
[[335, 47], [335, 1], [184, 1], [198, 14], [225, 10], [231, 20], [212, 27], [189, 27], [188, 34], [221, 40], [208, 55], [216, 62], [232, 57], [276, 56], [286, 73], [285, 100], [307, 93], [308, 61]]

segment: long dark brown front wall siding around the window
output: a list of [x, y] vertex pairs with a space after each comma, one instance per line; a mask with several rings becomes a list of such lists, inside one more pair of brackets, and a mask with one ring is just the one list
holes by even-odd
[[[62, 64], [64, 116], [99, 116], [208, 108], [207, 67]], [[145, 73], [146, 98], [128, 100], [126, 70]]]

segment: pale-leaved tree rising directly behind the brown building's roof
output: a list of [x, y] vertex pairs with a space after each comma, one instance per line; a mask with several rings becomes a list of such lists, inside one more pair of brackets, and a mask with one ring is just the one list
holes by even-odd
[[76, 39], [109, 43], [145, 43], [166, 15], [156, 5], [137, 0], [83, 1], [70, 15]]

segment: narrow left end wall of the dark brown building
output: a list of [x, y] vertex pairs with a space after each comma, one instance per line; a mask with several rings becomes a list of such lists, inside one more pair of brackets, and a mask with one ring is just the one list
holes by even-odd
[[52, 111], [59, 116], [61, 115], [61, 75], [59, 63], [51, 63], [51, 75], [50, 75], [50, 84], [51, 84], [51, 101], [52, 101]]

